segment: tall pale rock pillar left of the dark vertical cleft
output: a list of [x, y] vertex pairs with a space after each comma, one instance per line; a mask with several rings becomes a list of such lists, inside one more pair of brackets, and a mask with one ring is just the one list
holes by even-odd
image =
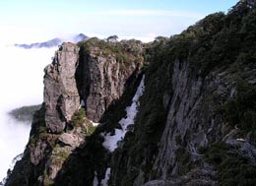
[[63, 131], [80, 106], [75, 79], [78, 63], [79, 47], [64, 43], [44, 70], [45, 124], [52, 133]]

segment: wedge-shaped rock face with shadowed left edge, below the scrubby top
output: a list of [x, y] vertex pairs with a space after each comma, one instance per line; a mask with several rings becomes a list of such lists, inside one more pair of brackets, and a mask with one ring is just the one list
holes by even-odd
[[94, 122], [98, 122], [108, 106], [120, 98], [127, 84], [136, 79], [142, 68], [142, 63], [133, 56], [124, 62], [117, 61], [118, 54], [105, 55], [103, 52], [99, 47], [90, 47], [89, 53], [84, 53], [81, 94], [87, 116]]

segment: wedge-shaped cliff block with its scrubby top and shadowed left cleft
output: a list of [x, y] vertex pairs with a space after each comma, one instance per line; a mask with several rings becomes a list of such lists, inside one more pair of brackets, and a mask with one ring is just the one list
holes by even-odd
[[[91, 44], [81, 43], [77, 77], [87, 116], [98, 122], [109, 105], [124, 93], [129, 81], [132, 83], [139, 74], [143, 46], [140, 41], [133, 40], [130, 43], [104, 43], [103, 46], [100, 46], [102, 41], [90, 41]], [[129, 51], [129, 48], [136, 51]]]

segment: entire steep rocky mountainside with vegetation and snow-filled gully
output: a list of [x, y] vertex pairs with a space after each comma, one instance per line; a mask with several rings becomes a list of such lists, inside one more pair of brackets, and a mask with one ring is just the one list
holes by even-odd
[[64, 43], [6, 185], [255, 185], [256, 10], [246, 3], [147, 44]]

